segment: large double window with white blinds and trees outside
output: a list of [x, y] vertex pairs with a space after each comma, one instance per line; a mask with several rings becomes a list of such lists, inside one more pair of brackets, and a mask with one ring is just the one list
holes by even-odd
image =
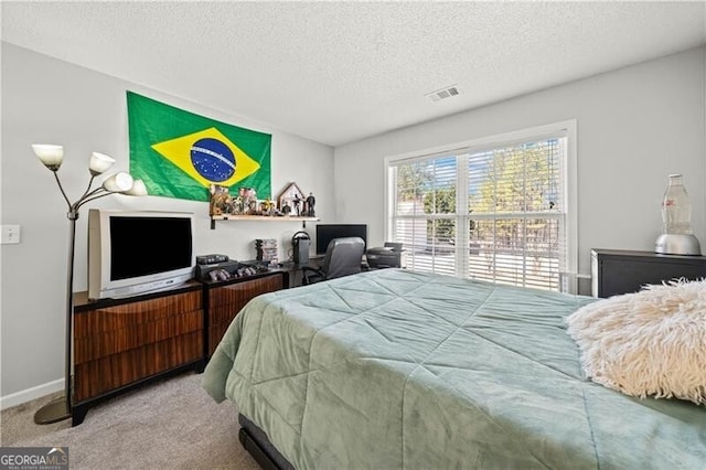
[[386, 160], [387, 239], [407, 268], [575, 290], [575, 122]]

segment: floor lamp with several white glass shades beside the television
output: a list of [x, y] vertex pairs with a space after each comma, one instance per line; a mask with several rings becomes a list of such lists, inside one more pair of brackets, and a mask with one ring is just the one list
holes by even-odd
[[115, 160], [104, 153], [93, 152], [90, 161], [88, 163], [88, 171], [90, 172], [90, 180], [84, 194], [78, 197], [76, 202], [71, 202], [66, 196], [66, 192], [58, 180], [58, 168], [64, 160], [64, 148], [62, 146], [35, 143], [32, 146], [32, 150], [40, 158], [44, 167], [50, 169], [54, 173], [56, 184], [68, 205], [68, 212], [66, 216], [69, 222], [69, 235], [68, 235], [68, 269], [67, 269], [67, 282], [66, 282], [66, 340], [65, 340], [65, 371], [64, 371], [64, 396], [57, 398], [42, 408], [38, 409], [34, 414], [34, 423], [38, 425], [47, 425], [51, 423], [61, 421], [72, 417], [72, 341], [73, 341], [73, 320], [74, 320], [74, 249], [76, 246], [76, 220], [78, 218], [78, 209], [89, 201], [94, 201], [98, 197], [104, 197], [110, 194], [128, 194], [128, 195], [146, 195], [147, 189], [142, 180], [133, 180], [126, 172], [115, 173], [106, 180], [103, 184], [94, 190], [90, 189], [93, 180], [108, 170]]

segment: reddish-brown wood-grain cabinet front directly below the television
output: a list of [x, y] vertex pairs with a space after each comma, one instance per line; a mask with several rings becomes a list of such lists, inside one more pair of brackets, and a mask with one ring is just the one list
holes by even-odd
[[74, 400], [203, 359], [201, 290], [74, 316]]

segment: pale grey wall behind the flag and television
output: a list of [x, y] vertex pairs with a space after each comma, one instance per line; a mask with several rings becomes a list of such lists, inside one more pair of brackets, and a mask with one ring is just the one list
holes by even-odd
[[[129, 170], [126, 89], [271, 133], [272, 196], [293, 181], [302, 191], [314, 193], [317, 215], [322, 222], [335, 217], [332, 148], [3, 42], [1, 223], [21, 226], [21, 243], [2, 245], [0, 252], [3, 407], [63, 387], [67, 207], [52, 173], [30, 146], [64, 146], [64, 163], [58, 174], [72, 201], [88, 183], [92, 151], [114, 157], [115, 170]], [[85, 206], [78, 218], [76, 291], [87, 289], [88, 207], [193, 212], [195, 253], [220, 253], [235, 259], [254, 259], [254, 239], [263, 237], [280, 241], [284, 259], [290, 255], [291, 235], [301, 229], [301, 223], [297, 222], [217, 222], [212, 231], [206, 202], [157, 196], [105, 197]], [[313, 235], [313, 224], [307, 228]]]

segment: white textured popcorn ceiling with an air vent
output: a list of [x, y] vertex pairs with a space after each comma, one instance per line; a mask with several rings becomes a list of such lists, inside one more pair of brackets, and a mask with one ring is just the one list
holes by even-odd
[[[2, 40], [330, 146], [706, 43], [694, 2], [11, 2]], [[460, 95], [425, 95], [458, 85]]]

